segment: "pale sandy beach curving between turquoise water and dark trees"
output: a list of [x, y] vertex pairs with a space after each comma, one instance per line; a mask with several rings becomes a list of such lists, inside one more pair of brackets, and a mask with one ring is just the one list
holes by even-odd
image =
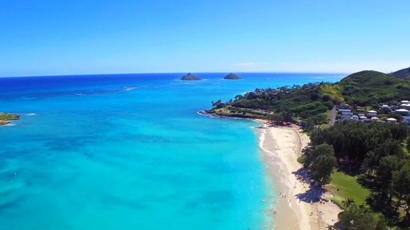
[[341, 209], [330, 201], [333, 195], [312, 184], [309, 173], [297, 162], [310, 142], [309, 136], [297, 127], [269, 127], [263, 120], [257, 122], [263, 125], [257, 132], [267, 173], [273, 176], [280, 192], [277, 209], [271, 210], [274, 229], [315, 230], [334, 224]]

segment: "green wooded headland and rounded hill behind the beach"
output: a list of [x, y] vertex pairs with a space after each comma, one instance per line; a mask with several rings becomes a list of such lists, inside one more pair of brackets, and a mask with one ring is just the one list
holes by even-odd
[[[358, 106], [395, 104], [410, 99], [410, 80], [377, 71], [361, 71], [337, 83], [317, 82], [276, 89], [255, 89], [237, 95], [227, 103], [214, 103], [214, 112], [223, 116], [272, 119], [273, 114], [293, 114], [299, 121], [329, 122], [335, 104]], [[289, 119], [286, 119], [289, 120]]]

